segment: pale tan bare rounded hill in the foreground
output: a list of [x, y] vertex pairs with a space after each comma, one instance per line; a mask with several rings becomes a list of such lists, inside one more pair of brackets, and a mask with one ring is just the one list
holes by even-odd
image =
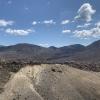
[[41, 64], [10, 74], [0, 100], [100, 100], [99, 72]]

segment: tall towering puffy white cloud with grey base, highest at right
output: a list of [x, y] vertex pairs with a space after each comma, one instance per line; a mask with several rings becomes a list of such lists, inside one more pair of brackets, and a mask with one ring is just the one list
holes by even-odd
[[89, 3], [84, 3], [78, 10], [78, 15], [75, 17], [75, 19], [81, 19], [89, 22], [92, 20], [92, 15], [95, 14], [95, 12], [96, 10], [92, 8], [92, 5]]

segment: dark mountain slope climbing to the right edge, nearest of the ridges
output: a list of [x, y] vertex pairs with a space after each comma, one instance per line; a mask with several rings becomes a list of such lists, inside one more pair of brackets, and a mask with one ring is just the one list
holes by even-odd
[[70, 56], [51, 59], [51, 62], [65, 63], [82, 70], [100, 71], [100, 40], [83, 47], [81, 51], [72, 53]]

